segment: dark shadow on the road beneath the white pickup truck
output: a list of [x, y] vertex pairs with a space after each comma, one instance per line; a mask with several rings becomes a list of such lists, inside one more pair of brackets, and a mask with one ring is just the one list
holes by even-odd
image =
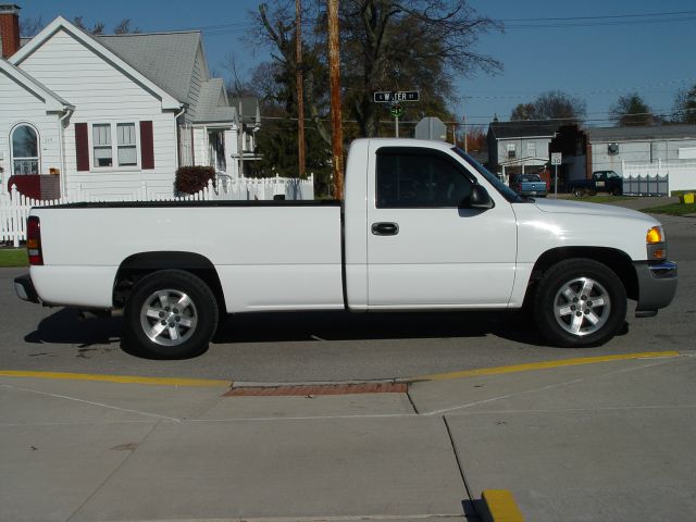
[[[120, 344], [122, 327], [122, 318], [80, 320], [77, 310], [61, 309], [44, 319], [24, 340], [32, 344], [71, 344], [89, 350]], [[213, 343], [472, 338], [487, 335], [545, 346], [531, 320], [511, 312], [240, 314], [221, 322]], [[139, 356], [128, 347], [121, 348]]]

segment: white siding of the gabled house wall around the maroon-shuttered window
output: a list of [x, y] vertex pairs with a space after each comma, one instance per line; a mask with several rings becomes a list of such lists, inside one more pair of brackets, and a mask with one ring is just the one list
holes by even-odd
[[[161, 100], [156, 95], [63, 30], [53, 35], [20, 66], [76, 107], [65, 129], [67, 190], [82, 185], [105, 199], [116, 199], [146, 182], [148, 188], [157, 194], [173, 194], [177, 161], [174, 114], [162, 112]], [[140, 121], [152, 121], [154, 170], [141, 171], [139, 166], [95, 169], [92, 165], [89, 172], [77, 172], [75, 123], [90, 124], [91, 145], [91, 124], [134, 122], [139, 133]], [[139, 139], [137, 150], [139, 165]], [[90, 164], [92, 161], [90, 149]]]

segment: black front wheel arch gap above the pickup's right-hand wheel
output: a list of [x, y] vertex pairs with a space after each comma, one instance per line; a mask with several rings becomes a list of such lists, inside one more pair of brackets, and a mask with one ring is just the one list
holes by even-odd
[[606, 264], [621, 279], [626, 289], [626, 296], [634, 300], [638, 298], [638, 278], [635, 268], [631, 257], [624, 251], [608, 247], [558, 247], [545, 251], [534, 263], [524, 296], [525, 304], [533, 298], [536, 283], [544, 272], [559, 261], [573, 258], [592, 259]]

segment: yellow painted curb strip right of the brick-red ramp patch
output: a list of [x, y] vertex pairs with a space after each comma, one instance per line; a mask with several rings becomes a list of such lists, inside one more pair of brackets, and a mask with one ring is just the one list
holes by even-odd
[[480, 375], [500, 375], [504, 373], [529, 372], [531, 370], [548, 370], [551, 368], [576, 366], [580, 364], [594, 364], [597, 362], [626, 361], [631, 359], [659, 359], [666, 357], [680, 357], [679, 351], [646, 351], [643, 353], [622, 353], [619, 356], [581, 357], [577, 359], [561, 359], [557, 361], [529, 362], [510, 366], [481, 368], [477, 370], [464, 370], [461, 372], [434, 373], [413, 377], [413, 381], [449, 381], [452, 378], [475, 377]]

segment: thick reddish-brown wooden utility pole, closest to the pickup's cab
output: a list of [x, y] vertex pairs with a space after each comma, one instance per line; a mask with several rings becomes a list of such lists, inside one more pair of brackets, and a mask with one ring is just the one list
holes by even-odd
[[328, 78], [331, 84], [334, 198], [344, 199], [344, 132], [340, 126], [340, 52], [338, 50], [338, 0], [326, 0], [328, 14]]

